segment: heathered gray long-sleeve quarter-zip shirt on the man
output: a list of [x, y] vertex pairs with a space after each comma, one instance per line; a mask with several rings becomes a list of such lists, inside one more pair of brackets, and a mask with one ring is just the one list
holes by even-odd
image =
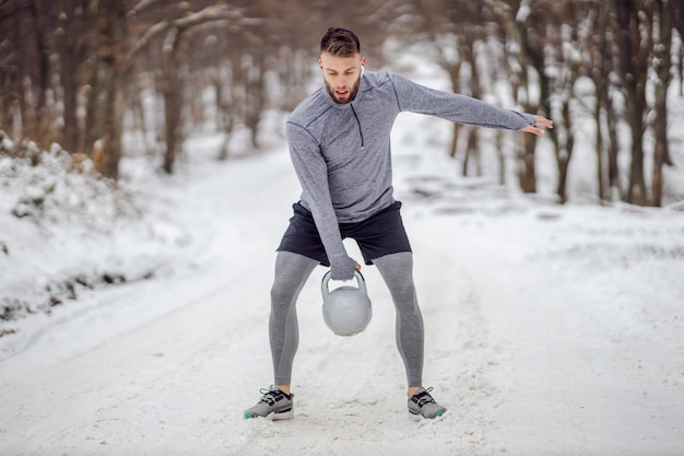
[[390, 131], [401, 112], [510, 130], [534, 124], [529, 114], [433, 90], [388, 71], [366, 71], [349, 104], [335, 103], [326, 87], [309, 95], [287, 119], [287, 141], [303, 188], [302, 206], [314, 215], [335, 280], [351, 279], [355, 266], [338, 224], [363, 221], [394, 202]]

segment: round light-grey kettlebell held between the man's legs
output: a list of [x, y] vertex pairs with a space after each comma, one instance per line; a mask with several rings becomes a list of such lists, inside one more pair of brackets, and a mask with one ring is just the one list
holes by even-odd
[[330, 271], [326, 272], [320, 284], [323, 295], [323, 321], [338, 336], [354, 336], [363, 332], [373, 317], [370, 299], [366, 292], [366, 280], [356, 271], [358, 287], [342, 285], [328, 289]]

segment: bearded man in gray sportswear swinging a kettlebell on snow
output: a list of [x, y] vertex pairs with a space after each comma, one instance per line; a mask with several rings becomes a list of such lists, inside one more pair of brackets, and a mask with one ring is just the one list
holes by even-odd
[[325, 87], [309, 95], [286, 122], [300, 201], [278, 248], [271, 289], [269, 337], [274, 383], [246, 418], [293, 416], [292, 363], [298, 344], [295, 304], [314, 268], [331, 267], [333, 280], [351, 280], [361, 269], [342, 239], [356, 241], [364, 261], [374, 264], [397, 309], [397, 347], [406, 371], [410, 417], [446, 412], [423, 387], [424, 327], [413, 284], [413, 257], [392, 197], [390, 131], [401, 112], [453, 122], [543, 135], [540, 116], [500, 109], [477, 100], [435, 91], [398, 74], [365, 72], [356, 35], [330, 28], [321, 39], [319, 67]]

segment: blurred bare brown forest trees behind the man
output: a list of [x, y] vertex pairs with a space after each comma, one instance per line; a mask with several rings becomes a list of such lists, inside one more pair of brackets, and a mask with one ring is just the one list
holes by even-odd
[[[660, 207], [663, 169], [682, 165], [669, 113], [669, 100], [684, 98], [684, 4], [674, 0], [0, 0], [0, 136], [11, 140], [0, 154], [57, 143], [116, 182], [130, 131], [166, 173], [208, 122], [225, 138], [219, 160], [237, 130], [258, 150], [266, 113], [291, 110], [317, 81], [311, 62], [329, 26], [354, 30], [375, 67], [421, 45], [455, 92], [505, 92], [552, 118], [559, 202], [587, 135], [578, 109], [593, 126], [599, 201]], [[453, 127], [447, 152], [464, 175], [483, 172], [481, 141]], [[515, 145], [523, 192], [538, 190], [538, 145], [532, 136]]]

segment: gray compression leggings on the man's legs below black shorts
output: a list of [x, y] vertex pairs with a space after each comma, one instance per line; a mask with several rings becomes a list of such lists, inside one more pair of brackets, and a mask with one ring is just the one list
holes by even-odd
[[[397, 348], [406, 370], [408, 386], [422, 386], [425, 332], [413, 284], [410, 252], [376, 258], [397, 309]], [[299, 344], [296, 301], [318, 261], [290, 252], [279, 252], [271, 289], [269, 338], [273, 356], [274, 385], [290, 385], [292, 363]]]

